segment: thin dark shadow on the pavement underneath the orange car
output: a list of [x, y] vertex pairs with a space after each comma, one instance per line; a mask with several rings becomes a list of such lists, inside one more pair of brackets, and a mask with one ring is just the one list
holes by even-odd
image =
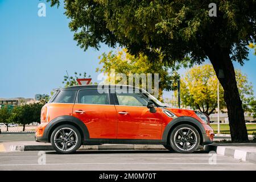
[[[207, 151], [195, 151], [192, 154], [207, 154]], [[56, 151], [49, 151], [46, 154], [60, 154]], [[178, 152], [171, 152], [167, 150], [88, 150], [76, 151], [73, 154], [180, 154]], [[69, 154], [72, 155], [72, 154]]]

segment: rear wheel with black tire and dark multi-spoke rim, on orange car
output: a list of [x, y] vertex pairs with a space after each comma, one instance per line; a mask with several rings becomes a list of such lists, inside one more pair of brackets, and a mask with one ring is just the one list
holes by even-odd
[[81, 134], [75, 126], [61, 125], [53, 131], [51, 144], [60, 154], [72, 154], [81, 146]]

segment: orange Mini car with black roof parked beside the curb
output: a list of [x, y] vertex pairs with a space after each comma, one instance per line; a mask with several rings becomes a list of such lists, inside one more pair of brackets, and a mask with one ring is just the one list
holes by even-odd
[[164, 106], [133, 86], [104, 86], [104, 92], [97, 85], [57, 90], [42, 108], [36, 141], [51, 142], [61, 154], [104, 143], [162, 144], [191, 153], [213, 142], [207, 115]]

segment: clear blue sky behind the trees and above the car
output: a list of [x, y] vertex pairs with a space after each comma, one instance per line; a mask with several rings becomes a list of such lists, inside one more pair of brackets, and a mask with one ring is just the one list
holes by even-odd
[[[98, 56], [110, 51], [102, 44], [99, 51], [89, 48], [84, 52], [73, 40], [63, 6], [57, 9], [46, 3], [46, 17], [39, 17], [40, 2], [46, 0], [0, 0], [0, 98], [49, 94], [63, 86], [66, 70], [69, 75], [86, 72], [97, 81]], [[256, 88], [253, 51], [249, 59], [243, 67], [234, 65], [247, 74]]]

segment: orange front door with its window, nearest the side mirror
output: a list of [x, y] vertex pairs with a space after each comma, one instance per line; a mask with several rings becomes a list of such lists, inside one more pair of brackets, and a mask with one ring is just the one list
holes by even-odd
[[160, 139], [162, 134], [162, 110], [155, 107], [151, 113], [149, 101], [142, 93], [115, 93], [118, 139]]

